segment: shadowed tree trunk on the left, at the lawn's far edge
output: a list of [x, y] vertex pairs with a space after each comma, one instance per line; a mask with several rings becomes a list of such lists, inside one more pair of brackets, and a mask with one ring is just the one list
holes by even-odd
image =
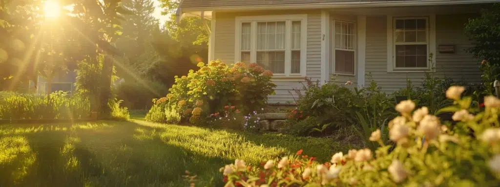
[[100, 116], [109, 116], [111, 109], [107, 105], [111, 99], [111, 76], [113, 73], [113, 57], [110, 54], [104, 53], [104, 62], [102, 64], [102, 72], [100, 79]]

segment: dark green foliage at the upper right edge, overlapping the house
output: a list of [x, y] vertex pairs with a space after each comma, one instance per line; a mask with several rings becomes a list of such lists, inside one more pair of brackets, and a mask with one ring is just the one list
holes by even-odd
[[482, 9], [481, 15], [465, 24], [465, 35], [472, 41], [468, 49], [474, 57], [500, 64], [500, 3]]

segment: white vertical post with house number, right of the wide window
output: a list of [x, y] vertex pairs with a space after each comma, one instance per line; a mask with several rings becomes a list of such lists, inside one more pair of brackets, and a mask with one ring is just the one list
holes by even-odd
[[330, 13], [321, 10], [321, 85], [329, 80]]

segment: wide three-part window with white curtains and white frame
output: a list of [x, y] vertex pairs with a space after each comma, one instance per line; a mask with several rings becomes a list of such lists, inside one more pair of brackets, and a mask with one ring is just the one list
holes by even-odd
[[305, 24], [305, 15], [237, 17], [235, 60], [277, 76], [305, 76]]

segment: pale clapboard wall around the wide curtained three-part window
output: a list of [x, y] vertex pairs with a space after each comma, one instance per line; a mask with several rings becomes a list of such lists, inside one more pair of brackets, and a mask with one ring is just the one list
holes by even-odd
[[[255, 12], [215, 12], [214, 59], [234, 63], [235, 17], [252, 15], [307, 14], [306, 76], [312, 80], [321, 78], [321, 11], [255, 11]], [[275, 78], [276, 94], [268, 97], [268, 103], [286, 104], [293, 102], [297, 95], [292, 89], [302, 89], [304, 78]], [[291, 93], [290, 93], [291, 92]]]

